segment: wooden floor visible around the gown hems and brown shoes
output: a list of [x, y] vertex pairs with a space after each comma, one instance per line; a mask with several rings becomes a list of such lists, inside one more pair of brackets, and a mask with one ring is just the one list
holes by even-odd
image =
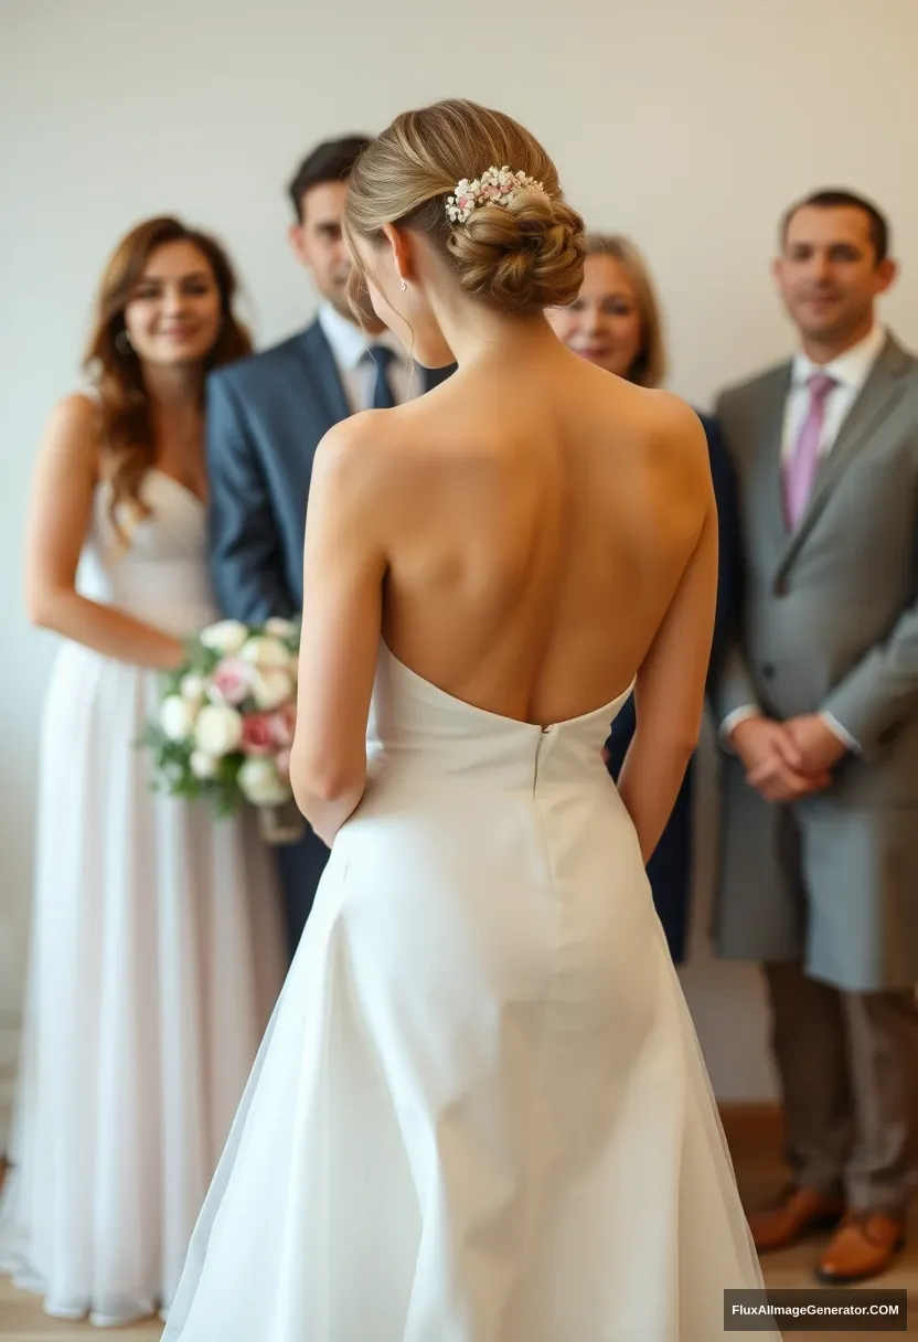
[[[746, 1208], [757, 1205], [774, 1193], [782, 1181], [780, 1164], [780, 1133], [773, 1115], [765, 1111], [738, 1111], [723, 1115], [725, 1129], [730, 1141], [737, 1180]], [[813, 1263], [824, 1240], [815, 1237], [805, 1244], [784, 1253], [762, 1259], [765, 1280], [769, 1286], [813, 1287]], [[910, 1244], [895, 1268], [884, 1278], [872, 1283], [883, 1287], [906, 1287], [910, 1292], [909, 1337], [918, 1338], [918, 1217], [913, 1219]], [[94, 1337], [97, 1342], [158, 1342], [162, 1326], [160, 1323], [137, 1323], [130, 1329], [91, 1329], [87, 1325], [58, 1323], [48, 1319], [40, 1303], [34, 1298], [15, 1291], [9, 1282], [0, 1278], [0, 1339], [1, 1342], [71, 1342], [74, 1338]], [[740, 1338], [742, 1334], [737, 1334]], [[754, 1335], [754, 1334], [750, 1334]], [[788, 1339], [805, 1334], [788, 1333]], [[888, 1333], [819, 1333], [811, 1334], [827, 1342], [854, 1342], [855, 1338], [880, 1342], [882, 1338], [902, 1334]], [[219, 1342], [219, 1339], [215, 1339]], [[252, 1338], [252, 1342], [258, 1342]], [[370, 1339], [365, 1339], [370, 1342]], [[568, 1339], [565, 1339], [568, 1342]], [[580, 1339], [569, 1339], [580, 1342]], [[584, 1339], [588, 1342], [588, 1339]], [[642, 1342], [635, 1338], [633, 1342]], [[707, 1342], [705, 1338], [683, 1338], [682, 1342]]]

